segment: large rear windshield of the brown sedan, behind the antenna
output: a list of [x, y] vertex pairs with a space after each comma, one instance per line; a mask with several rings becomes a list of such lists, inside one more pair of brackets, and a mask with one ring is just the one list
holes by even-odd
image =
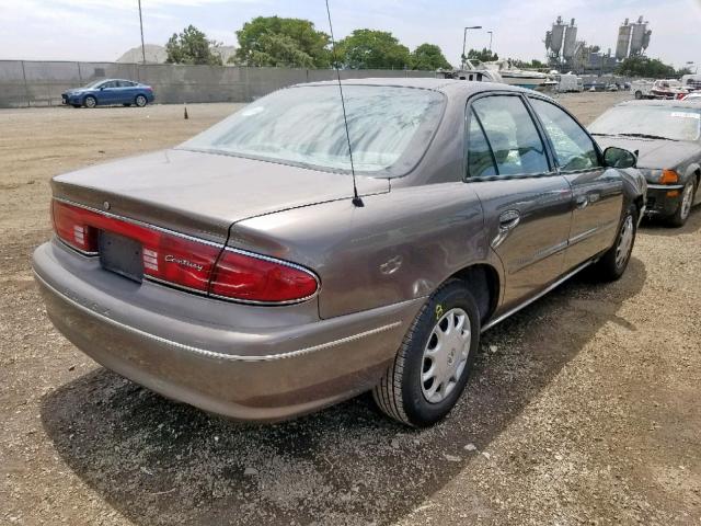
[[[423, 89], [345, 85], [356, 171], [406, 173], [424, 153], [444, 105]], [[350, 170], [337, 85], [289, 88], [249, 104], [182, 149]]]

